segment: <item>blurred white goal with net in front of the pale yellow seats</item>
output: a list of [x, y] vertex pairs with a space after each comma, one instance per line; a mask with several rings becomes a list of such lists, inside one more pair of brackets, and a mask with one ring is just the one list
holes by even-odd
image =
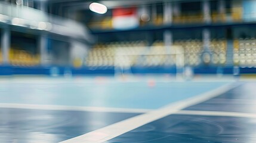
[[[141, 48], [141, 47], [140, 47]], [[169, 50], [166, 50], [168, 49]], [[176, 77], [182, 78], [185, 66], [182, 46], [144, 46], [140, 51], [132, 51], [136, 47], [115, 49], [115, 76], [133, 76], [132, 66], [141, 68], [164, 66], [175, 67]]]

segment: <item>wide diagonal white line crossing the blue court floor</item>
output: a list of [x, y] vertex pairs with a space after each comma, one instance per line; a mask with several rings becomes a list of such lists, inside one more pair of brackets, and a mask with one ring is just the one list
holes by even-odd
[[[109, 139], [115, 138], [116, 136], [122, 135], [123, 133], [129, 132], [130, 130], [136, 129], [140, 126], [146, 125], [147, 123], [153, 122], [154, 120], [161, 119], [162, 117], [168, 116], [169, 114], [177, 113], [183, 108], [191, 105], [198, 104], [200, 102], [214, 98], [224, 92], [235, 88], [235, 84], [228, 84], [221, 86], [220, 88], [198, 95], [196, 97], [187, 98], [186, 100], [178, 101], [170, 105], [166, 105], [158, 110], [152, 110], [148, 113], [141, 114], [129, 119], [123, 120], [118, 123], [106, 126], [101, 129], [94, 130], [84, 135], [77, 136], [60, 143], [101, 143], [108, 141]], [[189, 92], [189, 91], [188, 91]]]

